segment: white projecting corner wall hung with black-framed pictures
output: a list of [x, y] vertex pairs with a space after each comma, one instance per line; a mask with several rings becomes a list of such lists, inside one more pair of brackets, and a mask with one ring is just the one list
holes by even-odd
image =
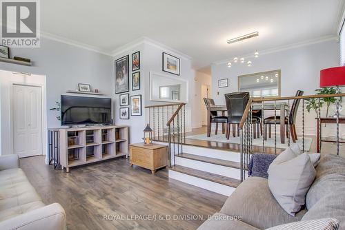
[[[136, 51], [140, 51], [140, 76], [141, 76], [141, 89], [137, 91], [132, 91], [130, 87], [130, 95], [141, 94], [143, 101], [143, 116], [130, 116], [130, 120], [120, 120], [119, 119], [119, 94], [115, 96], [115, 122], [122, 125], [130, 125], [130, 142], [136, 143], [141, 141], [143, 136], [143, 130], [148, 122], [148, 111], [145, 111], [144, 107], [148, 105], [161, 105], [166, 104], [160, 101], [150, 101], [150, 72], [157, 72], [164, 75], [175, 76], [188, 81], [188, 103], [186, 105], [186, 130], [190, 130], [194, 124], [195, 117], [199, 116], [198, 111], [195, 108], [195, 70], [191, 67], [191, 61], [186, 56], [177, 54], [176, 52], [169, 50], [166, 47], [161, 47], [152, 43], [140, 43], [135, 45], [119, 54], [116, 54], [113, 60], [119, 59], [121, 56], [127, 54], [130, 55]], [[162, 52], [172, 54], [180, 59], [180, 75], [169, 74], [162, 71]], [[131, 71], [130, 71], [131, 76]], [[131, 79], [130, 79], [131, 85]], [[200, 86], [201, 90], [201, 86]], [[199, 105], [199, 104], [198, 104]], [[193, 118], [193, 119], [192, 119]]]

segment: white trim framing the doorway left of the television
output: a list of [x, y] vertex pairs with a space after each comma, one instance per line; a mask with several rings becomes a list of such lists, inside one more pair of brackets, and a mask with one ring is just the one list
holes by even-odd
[[[47, 154], [47, 109], [46, 109], [46, 76], [44, 76], [44, 83], [37, 84], [37, 83], [22, 83], [17, 81], [12, 81], [10, 83], [10, 152], [14, 154], [14, 131], [13, 131], [13, 87], [14, 85], [22, 85], [22, 86], [29, 86], [29, 87], [40, 87], [41, 88], [41, 138], [42, 138], [42, 152], [41, 155]], [[46, 159], [47, 161], [47, 159]]]

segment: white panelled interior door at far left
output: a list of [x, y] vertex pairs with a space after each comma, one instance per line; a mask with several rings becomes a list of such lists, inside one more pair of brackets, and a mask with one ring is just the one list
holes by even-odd
[[42, 154], [41, 87], [13, 85], [13, 151], [20, 157]]

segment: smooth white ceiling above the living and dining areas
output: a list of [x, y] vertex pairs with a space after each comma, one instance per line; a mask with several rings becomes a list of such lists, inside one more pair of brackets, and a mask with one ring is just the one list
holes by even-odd
[[[109, 54], [146, 36], [195, 69], [255, 50], [337, 35], [345, 0], [43, 0], [41, 30]], [[253, 39], [227, 39], [259, 31]]]

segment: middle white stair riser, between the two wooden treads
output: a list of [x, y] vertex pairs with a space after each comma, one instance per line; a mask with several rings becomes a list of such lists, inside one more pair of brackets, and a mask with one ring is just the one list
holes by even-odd
[[218, 174], [221, 176], [226, 176], [230, 178], [235, 178], [241, 180], [241, 169], [236, 169], [232, 167], [226, 167], [222, 165], [215, 165], [211, 163], [205, 163], [199, 160], [191, 160], [186, 158], [181, 158], [176, 156], [176, 165], [181, 165], [184, 167], [197, 169], [201, 171], [207, 171], [211, 174]]

